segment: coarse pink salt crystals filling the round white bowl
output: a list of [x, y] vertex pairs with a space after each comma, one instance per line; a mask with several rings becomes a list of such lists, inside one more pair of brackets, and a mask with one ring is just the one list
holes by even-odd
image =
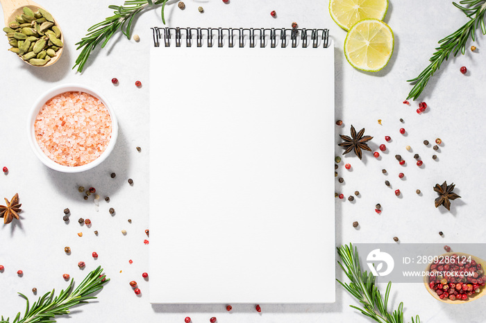
[[85, 92], [54, 96], [40, 109], [35, 138], [47, 157], [63, 166], [82, 166], [97, 159], [110, 143], [108, 109]]

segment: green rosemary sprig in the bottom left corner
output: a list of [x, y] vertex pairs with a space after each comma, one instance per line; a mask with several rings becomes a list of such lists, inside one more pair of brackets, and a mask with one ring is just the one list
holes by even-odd
[[[106, 276], [102, 274], [103, 268], [99, 266], [93, 270], [85, 279], [79, 284], [78, 288], [72, 291], [74, 286], [74, 279], [71, 279], [71, 283], [67, 286], [66, 290], [61, 290], [57, 297], [54, 297], [54, 290], [39, 297], [37, 302], [34, 302], [29, 308], [28, 298], [26, 295], [19, 293], [24, 297], [27, 302], [24, 316], [20, 317], [20, 312], [15, 319], [10, 322], [9, 317], [7, 320], [1, 316], [0, 323], [48, 323], [56, 322], [53, 320], [56, 315], [69, 314], [69, 308], [78, 304], [87, 303], [88, 299], [95, 299], [97, 297], [89, 296], [90, 294], [101, 290], [103, 284], [110, 281], [106, 279]], [[103, 279], [106, 279], [103, 281]]]

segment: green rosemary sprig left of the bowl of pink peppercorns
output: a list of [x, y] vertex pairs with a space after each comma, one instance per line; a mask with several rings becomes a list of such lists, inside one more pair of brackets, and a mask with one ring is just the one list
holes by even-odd
[[[381, 297], [380, 290], [375, 285], [375, 277], [371, 272], [362, 272], [360, 266], [360, 258], [358, 256], [358, 249], [353, 250], [353, 245], [342, 245], [337, 248], [337, 254], [340, 256], [342, 263], [337, 261], [344, 273], [351, 281], [350, 283], [339, 283], [346, 288], [346, 290], [353, 295], [360, 303], [362, 308], [350, 305], [357, 309], [367, 317], [380, 323], [403, 323], [403, 302], [399, 304], [399, 308], [389, 313], [388, 311], [388, 297], [389, 291], [392, 288], [390, 281], [385, 291], [385, 299]], [[419, 315], [412, 317], [412, 323], [420, 323]]]

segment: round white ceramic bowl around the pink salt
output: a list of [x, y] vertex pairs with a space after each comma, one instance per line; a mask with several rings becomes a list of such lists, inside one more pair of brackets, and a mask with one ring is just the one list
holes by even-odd
[[[47, 101], [49, 101], [50, 98], [53, 98], [53, 96], [68, 91], [82, 91], [99, 98], [99, 100], [108, 109], [108, 112], [110, 113], [111, 123], [112, 123], [111, 139], [110, 139], [110, 143], [108, 143], [108, 146], [106, 147], [106, 150], [103, 151], [103, 153], [97, 159], [94, 159], [94, 161], [91, 161], [90, 163], [82, 166], [64, 166], [56, 163], [56, 161], [53, 161], [52, 159], [47, 157], [47, 155], [45, 155], [44, 152], [42, 152], [39, 143], [37, 143], [37, 139], [35, 139], [34, 122], [35, 122], [35, 117], [40, 111], [40, 108]], [[83, 171], [87, 171], [88, 169], [91, 169], [95, 166], [98, 166], [99, 164], [101, 164], [103, 160], [106, 159], [106, 157], [108, 157], [108, 155], [110, 155], [110, 152], [112, 152], [113, 148], [115, 147], [115, 143], [117, 142], [117, 136], [118, 136], [117, 116], [115, 116], [115, 112], [113, 111], [110, 103], [106, 100], [104, 96], [99, 94], [97, 91], [94, 91], [94, 89], [91, 89], [90, 87], [86, 87], [85, 85], [67, 84], [67, 85], [59, 85], [58, 87], [54, 87], [53, 89], [50, 89], [49, 91], [45, 92], [42, 96], [40, 96], [40, 98], [38, 98], [37, 101], [35, 101], [33, 107], [31, 108], [31, 112], [29, 114], [28, 141], [31, 144], [31, 148], [34, 154], [37, 156], [37, 158], [39, 158], [40, 161], [44, 163], [44, 165], [46, 165], [49, 168], [52, 168], [55, 171], [60, 171], [63, 173], [80, 173]]]

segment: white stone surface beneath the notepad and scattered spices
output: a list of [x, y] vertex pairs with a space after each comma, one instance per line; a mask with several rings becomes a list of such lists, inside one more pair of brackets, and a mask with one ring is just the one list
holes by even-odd
[[[418, 101], [411, 106], [402, 101], [411, 86], [405, 80], [413, 78], [426, 67], [427, 60], [437, 46], [437, 40], [449, 35], [467, 21], [462, 12], [451, 1], [434, 3], [409, 0], [391, 1], [385, 21], [395, 35], [395, 51], [388, 66], [378, 73], [362, 73], [353, 69], [344, 59], [342, 43], [346, 33], [328, 15], [327, 1], [191, 1], [186, 0], [185, 10], [176, 6], [176, 1], [167, 5], [166, 18], [169, 26], [213, 26], [213, 27], [290, 27], [296, 21], [303, 28], [330, 28], [336, 42], [335, 61], [335, 113], [344, 121], [337, 134], [349, 134], [351, 124], [366, 128], [374, 136], [371, 148], [378, 149], [384, 136], [393, 141], [387, 143], [388, 150], [374, 159], [365, 154], [362, 161], [355, 157], [343, 158], [338, 170], [344, 184], [336, 182], [336, 191], [349, 196], [355, 190], [360, 198], [355, 203], [336, 200], [336, 245], [342, 243], [393, 243], [399, 236], [401, 243], [484, 243], [483, 226], [485, 154], [483, 133], [486, 112], [483, 108], [486, 92], [484, 38], [478, 35], [478, 51], [471, 53], [468, 43], [466, 55], [449, 58], [449, 62], [430, 80], [426, 92], [421, 96], [428, 103], [425, 114], [417, 114]], [[75, 308], [69, 317], [60, 317], [58, 322], [183, 322], [185, 316], [193, 322], [208, 322], [211, 316], [218, 322], [370, 322], [356, 313], [349, 304], [357, 305], [343, 288], [337, 287], [337, 302], [328, 305], [276, 305], [262, 304], [262, 313], [255, 313], [252, 305], [233, 305], [227, 313], [224, 305], [212, 306], [151, 306], [149, 283], [142, 279], [148, 270], [148, 248], [143, 240], [148, 226], [148, 78], [149, 47], [152, 44], [151, 26], [161, 26], [160, 9], [148, 10], [137, 19], [133, 33], [140, 35], [140, 42], [126, 40], [115, 35], [105, 49], [97, 50], [87, 64], [84, 73], [74, 73], [76, 42], [85, 35], [85, 30], [110, 15], [110, 4], [121, 1], [60, 1], [46, 0], [41, 3], [58, 19], [65, 33], [65, 51], [58, 63], [47, 69], [28, 67], [15, 55], [8, 52], [6, 41], [0, 42], [0, 166], [8, 166], [8, 175], [0, 174], [0, 196], [11, 198], [18, 192], [22, 202], [22, 221], [0, 227], [0, 263], [5, 266], [0, 273], [0, 311], [2, 315], [15, 317], [24, 311], [24, 300], [17, 292], [33, 299], [31, 288], [37, 295], [51, 288], [60, 290], [67, 284], [61, 275], [71, 274], [76, 281], [94, 266], [103, 265], [112, 279], [99, 293], [93, 304]], [[199, 13], [198, 6], [205, 12]], [[277, 18], [269, 12], [276, 10]], [[178, 61], [174, 64], [184, 62]], [[469, 70], [463, 76], [459, 68]], [[111, 78], [119, 79], [113, 86]], [[190, 73], [187, 73], [190, 78]], [[138, 89], [134, 83], [142, 82]], [[299, 80], [292, 80], [298, 82]], [[101, 166], [78, 175], [56, 173], [43, 166], [28, 147], [26, 120], [28, 110], [44, 91], [64, 82], [78, 82], [96, 87], [115, 107], [119, 118], [119, 140], [112, 155]], [[168, 79], [167, 82], [170, 82]], [[183, 86], [183, 85], [181, 85]], [[219, 85], [224, 89], [224, 82]], [[161, 98], [163, 99], [163, 98]], [[400, 123], [403, 118], [405, 123]], [[382, 120], [382, 125], [377, 120]], [[407, 130], [406, 136], [399, 128]], [[358, 130], [359, 130], [358, 129]], [[433, 142], [440, 137], [438, 161], [433, 161], [432, 148], [422, 141]], [[412, 146], [413, 152], [405, 150]], [[142, 151], [137, 152], [136, 146]], [[340, 155], [342, 149], [336, 146]], [[407, 161], [405, 167], [394, 159], [401, 154]], [[412, 155], [419, 153], [424, 166], [417, 168]], [[352, 165], [351, 171], [342, 166]], [[386, 168], [388, 175], [381, 173]], [[115, 171], [117, 177], [110, 178]], [[405, 180], [397, 174], [405, 173]], [[127, 179], [133, 178], [133, 186]], [[383, 182], [392, 182], [393, 190], [401, 189], [401, 198], [396, 198], [392, 189]], [[435, 209], [432, 188], [444, 180], [457, 184], [462, 199], [453, 202], [451, 212]], [[90, 199], [85, 202], [79, 185], [94, 186], [101, 199], [105, 195], [110, 203], [100, 201], [99, 211]], [[414, 193], [421, 189], [423, 195]], [[380, 203], [383, 212], [377, 215], [374, 205]], [[62, 221], [62, 210], [69, 207], [72, 220], [69, 225]], [[108, 209], [114, 207], [115, 216]], [[92, 227], [80, 227], [77, 219], [90, 218]], [[133, 222], [127, 222], [131, 218]], [[351, 223], [360, 222], [354, 229]], [[121, 230], [126, 229], [126, 236]], [[99, 236], [93, 234], [99, 231]], [[443, 231], [444, 237], [437, 232]], [[83, 232], [83, 237], [77, 236]], [[67, 256], [64, 247], [69, 245], [72, 254]], [[99, 259], [93, 260], [96, 251]], [[128, 260], [133, 259], [129, 265]], [[87, 268], [78, 270], [78, 261], [85, 261]], [[190, 264], [188, 264], [190, 265]], [[330, 263], [330, 266], [335, 266]], [[17, 277], [17, 270], [24, 277]], [[337, 277], [344, 275], [337, 268]], [[122, 271], [122, 272], [120, 272]], [[133, 294], [128, 285], [136, 280], [142, 289], [142, 297]], [[257, 293], [258, 291], [255, 291]], [[332, 291], [330, 291], [332, 293]], [[187, 290], [187, 293], [191, 293]], [[326, 293], [326, 291], [323, 291]], [[405, 317], [419, 314], [423, 322], [483, 322], [485, 310], [482, 301], [462, 306], [442, 304], [428, 295], [421, 284], [395, 284], [391, 302], [396, 308], [405, 303]], [[467, 319], [466, 319], [467, 317]]]

